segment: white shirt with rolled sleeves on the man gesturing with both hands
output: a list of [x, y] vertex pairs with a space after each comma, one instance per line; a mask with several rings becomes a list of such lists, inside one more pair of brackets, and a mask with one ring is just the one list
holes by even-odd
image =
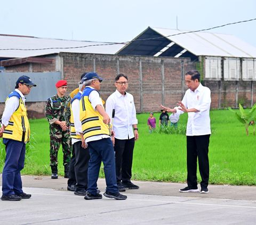
[[[182, 103], [187, 109], [196, 109], [199, 112], [188, 113], [187, 123], [187, 136], [201, 136], [211, 134], [210, 125], [210, 105], [211, 105], [211, 90], [203, 85], [199, 84], [194, 91], [188, 89], [185, 96], [182, 99]], [[179, 116], [184, 113], [178, 110], [179, 107], [175, 107]]]

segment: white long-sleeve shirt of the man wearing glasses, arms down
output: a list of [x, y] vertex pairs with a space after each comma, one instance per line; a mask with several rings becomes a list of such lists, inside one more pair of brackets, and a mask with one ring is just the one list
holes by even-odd
[[106, 102], [106, 113], [110, 119], [112, 118], [113, 109], [115, 109], [113, 126], [115, 138], [121, 140], [133, 138], [132, 125], [138, 124], [133, 96], [127, 92], [123, 96], [116, 90], [108, 97]]

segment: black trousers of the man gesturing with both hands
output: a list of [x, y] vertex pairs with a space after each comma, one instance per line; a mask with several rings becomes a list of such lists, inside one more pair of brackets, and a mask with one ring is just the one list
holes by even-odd
[[197, 157], [199, 172], [202, 178], [201, 188], [209, 182], [209, 140], [210, 135], [187, 136], [187, 170], [188, 187], [197, 188]]

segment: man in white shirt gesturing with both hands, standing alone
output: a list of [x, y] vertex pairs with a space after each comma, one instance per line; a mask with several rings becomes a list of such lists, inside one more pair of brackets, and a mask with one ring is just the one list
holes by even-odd
[[197, 188], [197, 157], [199, 172], [202, 178], [201, 193], [208, 193], [209, 182], [209, 138], [211, 135], [210, 126], [210, 105], [211, 91], [204, 87], [200, 81], [200, 74], [197, 70], [190, 70], [186, 73], [185, 81], [189, 88], [182, 101], [177, 103], [179, 107], [174, 109], [163, 107], [167, 112], [174, 112], [175, 115], [187, 112], [187, 184], [188, 187], [180, 189], [180, 192], [196, 192]]

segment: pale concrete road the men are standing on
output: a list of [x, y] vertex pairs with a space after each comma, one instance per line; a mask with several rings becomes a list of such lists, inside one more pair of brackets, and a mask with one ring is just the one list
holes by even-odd
[[[210, 185], [209, 194], [179, 193], [186, 184], [134, 181], [140, 189], [126, 190], [124, 201], [87, 201], [66, 190], [65, 178], [22, 181], [32, 197], [0, 201], [0, 224], [256, 224], [256, 187]], [[103, 194], [104, 179], [98, 187]]]

